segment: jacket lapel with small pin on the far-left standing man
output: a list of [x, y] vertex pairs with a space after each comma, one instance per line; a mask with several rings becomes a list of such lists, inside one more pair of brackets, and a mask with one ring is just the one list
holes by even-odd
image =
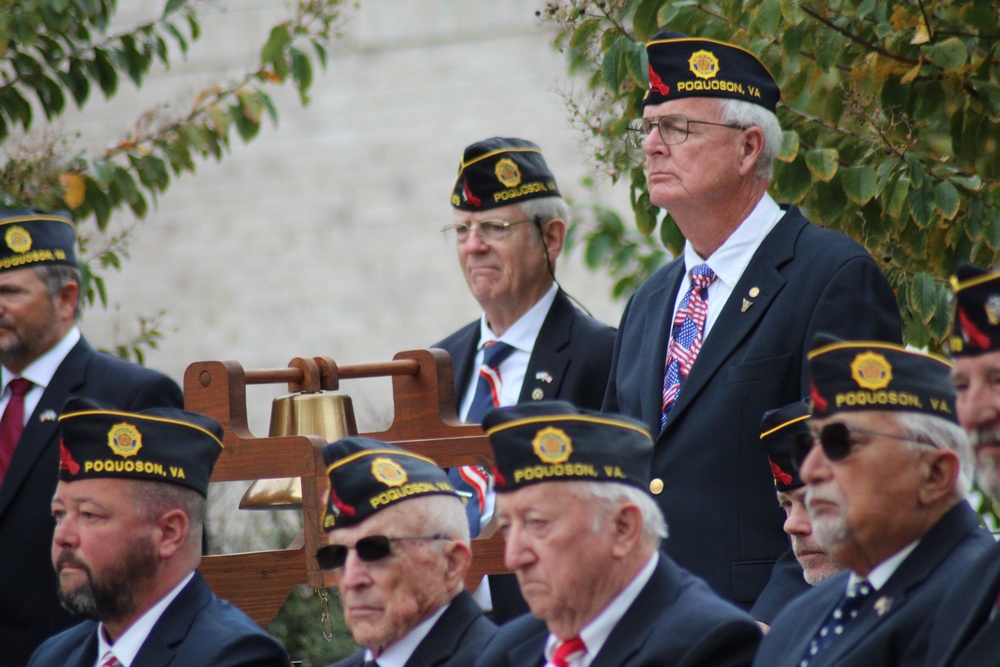
[[[31, 413], [24, 425], [24, 433], [21, 434], [3, 486], [0, 487], [0, 514], [6, 511], [11, 499], [17, 495], [18, 490], [31, 476], [35, 466], [38, 465], [39, 459], [48, 449], [49, 443], [55, 439], [58, 416], [62, 412], [62, 406], [71, 393], [83, 383], [91, 354], [93, 354], [93, 350], [81, 338], [59, 364], [49, 386], [42, 392], [42, 397], [38, 401], [35, 411]], [[43, 415], [45, 416], [44, 420], [42, 419]], [[54, 470], [53, 474], [55, 474]]]

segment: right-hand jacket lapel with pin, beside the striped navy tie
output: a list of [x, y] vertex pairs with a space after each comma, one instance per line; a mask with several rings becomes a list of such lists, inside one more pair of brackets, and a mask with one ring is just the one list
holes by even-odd
[[561, 350], [570, 343], [574, 317], [576, 309], [569, 297], [562, 290], [557, 291], [535, 339], [518, 403], [552, 400], [559, 395], [570, 362], [569, 356]]

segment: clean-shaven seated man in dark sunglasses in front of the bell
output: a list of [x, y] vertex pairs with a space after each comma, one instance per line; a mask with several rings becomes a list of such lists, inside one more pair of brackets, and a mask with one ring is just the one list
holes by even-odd
[[363, 650], [332, 667], [468, 667], [496, 626], [464, 590], [462, 501], [430, 459], [368, 438], [323, 450], [330, 494], [319, 566], [337, 573]]

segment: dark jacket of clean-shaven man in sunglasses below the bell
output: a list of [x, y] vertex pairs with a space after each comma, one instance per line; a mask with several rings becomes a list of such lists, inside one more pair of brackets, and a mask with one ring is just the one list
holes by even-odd
[[[496, 631], [472, 596], [462, 591], [417, 645], [406, 667], [471, 667]], [[364, 661], [361, 651], [330, 667], [361, 667]]]

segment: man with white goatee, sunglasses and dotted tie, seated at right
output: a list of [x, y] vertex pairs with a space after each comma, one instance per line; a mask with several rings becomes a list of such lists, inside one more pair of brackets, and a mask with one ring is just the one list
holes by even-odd
[[812, 437], [793, 460], [813, 534], [847, 571], [778, 614], [755, 665], [889, 667], [926, 653], [921, 628], [994, 544], [964, 499], [972, 462], [950, 371], [889, 343], [817, 339]]

